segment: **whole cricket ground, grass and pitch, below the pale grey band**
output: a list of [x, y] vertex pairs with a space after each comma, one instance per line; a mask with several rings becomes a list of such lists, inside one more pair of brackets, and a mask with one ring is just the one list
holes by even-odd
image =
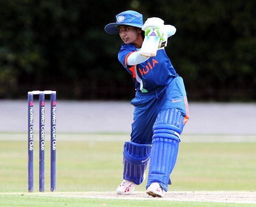
[[[184, 135], [166, 198], [147, 197], [145, 183], [137, 186], [134, 197], [117, 197], [114, 193], [122, 181], [122, 145], [128, 134], [58, 134], [55, 193], [49, 192], [49, 141], [45, 152], [46, 192], [38, 193], [35, 141], [34, 193], [27, 193], [26, 137], [25, 133], [0, 134], [0, 206], [256, 206], [254, 136], [231, 139], [232, 136], [194, 135], [199, 137], [196, 140]], [[214, 195], [220, 191], [222, 198]], [[90, 197], [89, 192], [100, 194]], [[212, 192], [213, 203], [203, 202], [211, 197], [207, 192]], [[197, 196], [201, 196], [197, 200], [201, 202], [195, 201]], [[234, 198], [239, 196], [240, 199]], [[191, 199], [186, 201], [186, 197]], [[215, 203], [220, 199], [224, 203]]]

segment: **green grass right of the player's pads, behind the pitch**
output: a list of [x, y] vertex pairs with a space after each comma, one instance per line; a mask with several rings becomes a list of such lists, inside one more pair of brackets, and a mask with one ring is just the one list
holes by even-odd
[[256, 143], [181, 143], [173, 190], [255, 190]]

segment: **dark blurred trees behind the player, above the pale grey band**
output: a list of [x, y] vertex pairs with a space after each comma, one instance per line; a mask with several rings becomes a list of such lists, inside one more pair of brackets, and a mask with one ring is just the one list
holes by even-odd
[[0, 98], [128, 100], [122, 44], [104, 26], [136, 10], [177, 28], [166, 51], [189, 100], [256, 100], [255, 0], [0, 0]]

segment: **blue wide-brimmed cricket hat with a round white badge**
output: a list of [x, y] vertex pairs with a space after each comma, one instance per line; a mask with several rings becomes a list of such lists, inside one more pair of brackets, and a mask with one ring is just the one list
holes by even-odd
[[117, 26], [123, 24], [142, 28], [143, 16], [139, 12], [135, 12], [132, 10], [121, 12], [120, 14], [116, 15], [116, 23], [107, 24], [105, 27], [105, 31], [109, 34], [118, 34], [119, 30]]

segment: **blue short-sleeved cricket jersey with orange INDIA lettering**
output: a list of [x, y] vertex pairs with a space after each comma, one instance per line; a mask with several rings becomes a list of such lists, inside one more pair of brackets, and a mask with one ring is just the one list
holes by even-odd
[[158, 50], [155, 57], [150, 57], [143, 63], [130, 66], [127, 65], [127, 58], [132, 52], [136, 52], [135, 46], [123, 43], [118, 53], [118, 59], [132, 75], [136, 90], [153, 91], [168, 85], [174, 77], [178, 77], [164, 49]]

